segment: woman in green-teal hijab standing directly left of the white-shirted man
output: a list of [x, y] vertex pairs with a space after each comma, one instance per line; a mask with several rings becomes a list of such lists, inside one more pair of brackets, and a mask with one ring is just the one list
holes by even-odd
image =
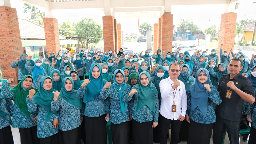
[[124, 96], [124, 102], [132, 98], [132, 143], [153, 143], [153, 127], [158, 124], [159, 102], [157, 89], [148, 72], [140, 73], [140, 83]]

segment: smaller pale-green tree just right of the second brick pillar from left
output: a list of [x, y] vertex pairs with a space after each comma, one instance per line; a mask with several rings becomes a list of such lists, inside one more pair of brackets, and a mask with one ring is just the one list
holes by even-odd
[[75, 29], [71, 26], [70, 21], [63, 22], [59, 24], [59, 33], [67, 37], [72, 37], [75, 35]]

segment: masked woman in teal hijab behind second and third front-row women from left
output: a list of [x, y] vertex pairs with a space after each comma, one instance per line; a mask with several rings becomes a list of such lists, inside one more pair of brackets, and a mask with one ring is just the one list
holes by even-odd
[[62, 83], [62, 78], [60, 71], [57, 69], [52, 70], [51, 72], [51, 77], [52, 77], [52, 87], [54, 90], [60, 91], [61, 89], [61, 83]]

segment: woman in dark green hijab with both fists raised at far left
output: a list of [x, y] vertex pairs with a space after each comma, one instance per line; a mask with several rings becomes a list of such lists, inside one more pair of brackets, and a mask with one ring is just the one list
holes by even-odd
[[39, 144], [37, 133], [37, 112], [28, 110], [27, 96], [34, 95], [38, 90], [31, 87], [33, 77], [25, 75], [14, 88], [10, 90], [9, 79], [1, 90], [1, 99], [13, 99], [14, 111], [12, 115], [12, 127], [19, 128], [20, 143]]

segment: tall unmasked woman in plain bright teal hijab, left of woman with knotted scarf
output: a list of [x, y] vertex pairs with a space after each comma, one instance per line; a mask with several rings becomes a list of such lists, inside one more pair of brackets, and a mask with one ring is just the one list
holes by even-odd
[[106, 120], [109, 119], [109, 100], [101, 100], [100, 92], [105, 85], [111, 85], [103, 79], [101, 65], [91, 64], [89, 79], [85, 79], [77, 98], [83, 99], [85, 131], [87, 143], [106, 143]]

